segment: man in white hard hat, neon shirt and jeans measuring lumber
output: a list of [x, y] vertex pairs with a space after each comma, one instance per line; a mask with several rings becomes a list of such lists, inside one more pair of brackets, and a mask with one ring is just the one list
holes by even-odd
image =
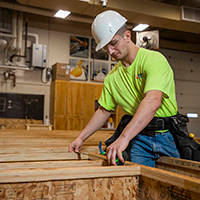
[[116, 165], [116, 156], [124, 162], [121, 152], [130, 146], [132, 162], [154, 167], [161, 155], [180, 157], [168, 129], [151, 131], [151, 135], [143, 131], [154, 116], [177, 114], [173, 71], [162, 54], [138, 48], [131, 41], [126, 21], [115, 11], [105, 11], [94, 19], [92, 34], [96, 50], [103, 48], [119, 62], [104, 80], [100, 108], [69, 146], [69, 152], [79, 151], [83, 141], [101, 128], [111, 111], [120, 105], [133, 118], [107, 147], [108, 162]]

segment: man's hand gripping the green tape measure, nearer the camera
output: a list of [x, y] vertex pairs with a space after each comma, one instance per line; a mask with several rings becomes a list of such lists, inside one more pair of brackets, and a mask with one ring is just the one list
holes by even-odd
[[126, 147], [129, 144], [129, 140], [127, 140], [125, 137], [119, 137], [115, 142], [113, 142], [111, 145], [108, 146], [106, 150], [106, 156], [108, 163], [111, 165], [116, 165], [116, 156], [119, 158], [119, 160], [124, 163], [124, 159], [122, 156], [122, 151], [126, 149]]

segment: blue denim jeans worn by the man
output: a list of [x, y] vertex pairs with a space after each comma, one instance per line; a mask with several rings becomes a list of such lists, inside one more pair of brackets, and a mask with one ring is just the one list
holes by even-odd
[[180, 158], [170, 132], [156, 134], [154, 137], [138, 134], [130, 141], [130, 161], [155, 167], [160, 156]]

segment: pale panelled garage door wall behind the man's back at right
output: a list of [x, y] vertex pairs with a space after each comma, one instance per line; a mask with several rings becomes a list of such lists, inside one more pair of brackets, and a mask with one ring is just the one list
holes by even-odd
[[[200, 115], [200, 54], [160, 49], [172, 66], [180, 113]], [[200, 116], [190, 118], [189, 132], [200, 137]]]

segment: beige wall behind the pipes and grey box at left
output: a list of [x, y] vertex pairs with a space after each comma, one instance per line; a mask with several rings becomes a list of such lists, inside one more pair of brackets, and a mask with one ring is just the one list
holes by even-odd
[[[51, 28], [49, 28], [51, 27]], [[88, 26], [89, 27], [89, 26]], [[69, 63], [69, 37], [70, 33], [83, 35], [90, 32], [89, 28], [85, 29], [84, 24], [72, 23], [62, 19], [53, 19], [39, 17], [36, 15], [29, 16], [28, 32], [36, 33], [39, 36], [39, 44], [47, 45], [48, 56], [47, 66], [51, 67], [56, 62]], [[24, 41], [23, 41], [24, 42]], [[33, 38], [28, 38], [28, 46], [34, 42]], [[0, 54], [0, 64], [3, 64], [4, 54]], [[22, 59], [18, 64], [25, 64]], [[50, 82], [42, 83], [42, 70], [34, 71], [16, 70], [16, 86], [13, 87], [13, 81], [4, 80], [3, 73], [6, 71], [0, 68], [0, 92], [5, 93], [23, 93], [23, 94], [41, 94], [45, 96], [44, 118], [49, 117], [50, 111]], [[43, 80], [45, 80], [43, 78]]]

